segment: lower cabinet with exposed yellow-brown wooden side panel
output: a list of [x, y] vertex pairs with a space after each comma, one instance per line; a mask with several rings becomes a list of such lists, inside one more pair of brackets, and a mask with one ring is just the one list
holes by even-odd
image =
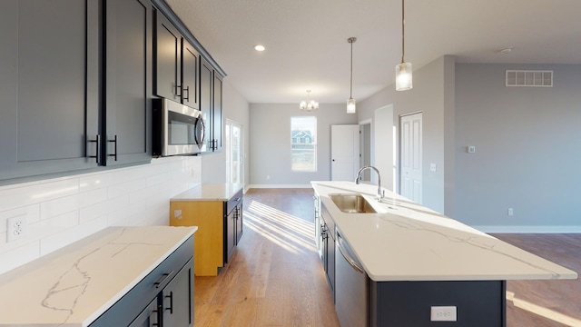
[[172, 200], [172, 226], [198, 226], [195, 275], [217, 276], [242, 236], [242, 190], [227, 201]]

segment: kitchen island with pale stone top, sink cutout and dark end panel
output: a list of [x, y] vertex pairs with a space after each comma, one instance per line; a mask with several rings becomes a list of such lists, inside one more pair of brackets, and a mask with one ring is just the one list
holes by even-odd
[[[505, 326], [506, 281], [577, 274], [377, 186], [312, 182], [327, 233], [340, 233], [367, 274], [369, 326]], [[331, 194], [360, 194], [376, 213], [344, 213]], [[330, 222], [328, 222], [330, 221]], [[321, 223], [321, 224], [322, 224]], [[317, 226], [316, 226], [317, 227]], [[340, 253], [335, 253], [339, 267]], [[335, 267], [330, 267], [329, 269]], [[330, 272], [336, 303], [345, 294]], [[337, 284], [336, 284], [337, 282]], [[344, 308], [337, 307], [338, 314]]]

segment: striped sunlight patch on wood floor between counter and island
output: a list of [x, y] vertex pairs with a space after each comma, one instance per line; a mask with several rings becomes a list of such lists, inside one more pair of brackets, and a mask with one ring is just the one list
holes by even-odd
[[317, 251], [314, 243], [314, 223], [254, 200], [243, 214], [246, 227], [285, 250], [291, 253]]

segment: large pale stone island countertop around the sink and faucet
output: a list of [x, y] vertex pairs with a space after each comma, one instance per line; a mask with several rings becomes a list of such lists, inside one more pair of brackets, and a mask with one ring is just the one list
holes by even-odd
[[[373, 281], [576, 279], [577, 273], [377, 185], [311, 182]], [[378, 213], [342, 213], [328, 196], [360, 193]]]

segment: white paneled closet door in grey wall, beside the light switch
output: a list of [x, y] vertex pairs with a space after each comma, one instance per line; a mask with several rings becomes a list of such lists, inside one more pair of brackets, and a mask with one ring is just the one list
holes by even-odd
[[421, 203], [421, 113], [399, 118], [401, 170], [399, 193], [409, 200]]

